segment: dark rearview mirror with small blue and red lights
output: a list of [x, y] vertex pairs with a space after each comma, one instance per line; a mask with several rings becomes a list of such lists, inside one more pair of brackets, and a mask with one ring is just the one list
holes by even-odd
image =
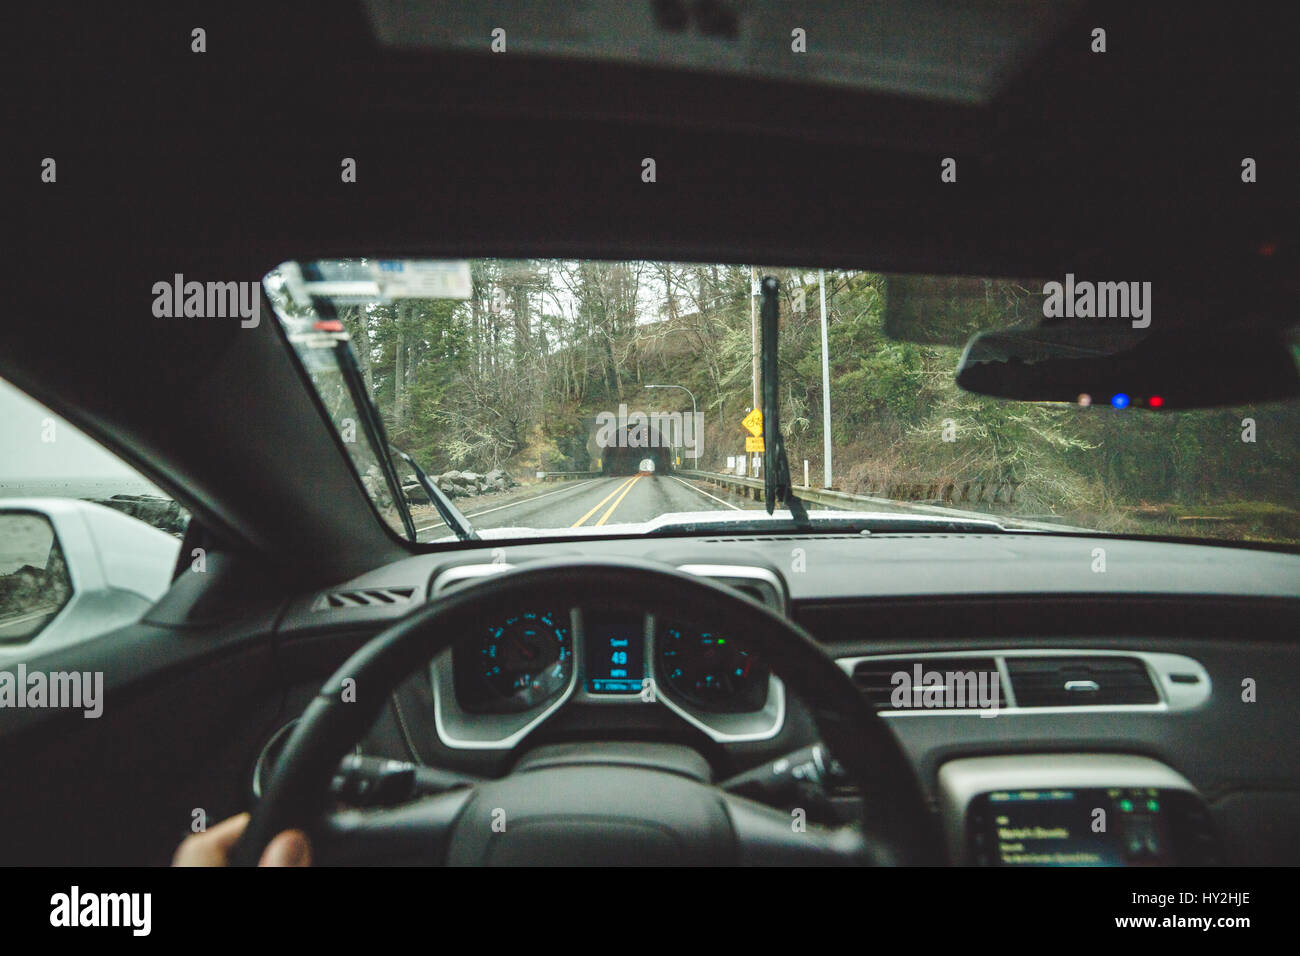
[[1020, 402], [1209, 408], [1300, 394], [1296, 358], [1271, 328], [1056, 325], [984, 332], [957, 369], [967, 392]]

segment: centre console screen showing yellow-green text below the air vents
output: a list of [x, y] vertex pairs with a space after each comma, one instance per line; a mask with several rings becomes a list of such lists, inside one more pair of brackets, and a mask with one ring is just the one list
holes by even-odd
[[992, 866], [1169, 865], [1171, 796], [1128, 787], [982, 793], [968, 810], [971, 852]]

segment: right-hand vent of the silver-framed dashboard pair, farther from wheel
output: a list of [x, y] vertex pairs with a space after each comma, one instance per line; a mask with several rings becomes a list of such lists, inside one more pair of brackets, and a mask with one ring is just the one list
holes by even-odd
[[1008, 657], [1006, 670], [1020, 708], [1160, 702], [1136, 657]]

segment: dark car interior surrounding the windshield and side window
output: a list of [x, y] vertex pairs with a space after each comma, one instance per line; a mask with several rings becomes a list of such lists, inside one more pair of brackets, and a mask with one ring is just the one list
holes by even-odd
[[[759, 284], [762, 476], [608, 457], [637, 488], [686, 476], [701, 509], [736, 501], [718, 520], [525, 535], [464, 506], [476, 532], [439, 480], [438, 533], [407, 535], [308, 347], [343, 336], [312, 264], [360, 258], [1069, 274], [1150, 282], [1150, 352], [1075, 362], [1066, 330], [1062, 364], [1037, 364], [971, 328], [992, 337], [952, 368], [962, 388], [1115, 405], [1131, 381], [1170, 406], [1134, 416], [1294, 401], [1288, 10], [576, 7], [22, 10], [31, 92], [6, 152], [32, 186], [0, 380], [190, 519], [130, 623], [0, 645], [4, 670], [103, 675], [96, 719], [0, 710], [0, 862], [161, 866], [196, 816], [243, 810], [239, 864], [287, 827], [320, 865], [1300, 862], [1297, 541], [941, 507], [837, 522], [785, 460], [796, 371]], [[794, 27], [818, 64], [783, 57]], [[277, 274], [317, 289], [317, 338]], [[254, 284], [256, 317], [151, 308], [182, 276]], [[1266, 432], [1295, 509], [1297, 436]], [[376, 481], [404, 473], [370, 445]], [[582, 501], [607, 519], [624, 472], [595, 471], [610, 496]], [[953, 704], [954, 674], [974, 698]]]

